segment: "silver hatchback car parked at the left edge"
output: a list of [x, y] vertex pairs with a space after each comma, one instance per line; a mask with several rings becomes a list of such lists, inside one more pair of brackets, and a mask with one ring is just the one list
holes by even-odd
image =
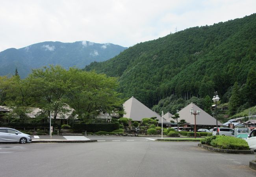
[[0, 142], [19, 142], [20, 144], [25, 144], [26, 142], [32, 142], [32, 138], [30, 135], [15, 129], [0, 128]]

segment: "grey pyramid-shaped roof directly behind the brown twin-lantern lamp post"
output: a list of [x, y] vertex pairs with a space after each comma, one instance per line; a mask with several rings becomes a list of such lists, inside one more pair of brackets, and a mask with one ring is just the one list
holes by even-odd
[[[195, 125], [195, 116], [189, 112], [189, 110], [192, 109], [197, 111], [200, 110], [200, 114], [196, 115], [196, 124], [197, 125], [216, 125], [216, 119], [213, 118], [210, 114], [202, 110], [200, 107], [195, 105], [194, 103], [190, 103], [186, 107], [184, 107], [182, 110], [178, 112], [180, 118], [178, 118], [178, 121], [184, 119], [186, 122], [189, 122], [190, 125]], [[218, 121], [218, 126], [223, 125], [221, 122]]]

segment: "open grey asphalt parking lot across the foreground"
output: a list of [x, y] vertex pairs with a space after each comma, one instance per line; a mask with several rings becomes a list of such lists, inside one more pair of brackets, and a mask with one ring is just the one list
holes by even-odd
[[145, 137], [93, 143], [0, 144], [0, 176], [256, 176], [249, 168], [255, 155], [213, 153], [197, 144], [156, 142]]

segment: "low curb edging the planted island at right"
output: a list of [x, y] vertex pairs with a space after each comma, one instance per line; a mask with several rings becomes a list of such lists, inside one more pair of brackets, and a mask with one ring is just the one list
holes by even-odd
[[233, 150], [233, 149], [219, 149], [205, 144], [198, 144], [198, 147], [207, 149], [208, 151], [228, 154], [254, 154], [253, 150]]

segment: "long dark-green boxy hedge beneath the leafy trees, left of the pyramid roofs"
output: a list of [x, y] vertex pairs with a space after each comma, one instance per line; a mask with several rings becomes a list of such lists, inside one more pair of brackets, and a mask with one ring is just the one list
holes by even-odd
[[110, 124], [74, 124], [73, 130], [74, 132], [98, 132], [98, 131], [106, 131], [111, 132], [120, 128], [120, 124], [118, 122], [110, 123]]

